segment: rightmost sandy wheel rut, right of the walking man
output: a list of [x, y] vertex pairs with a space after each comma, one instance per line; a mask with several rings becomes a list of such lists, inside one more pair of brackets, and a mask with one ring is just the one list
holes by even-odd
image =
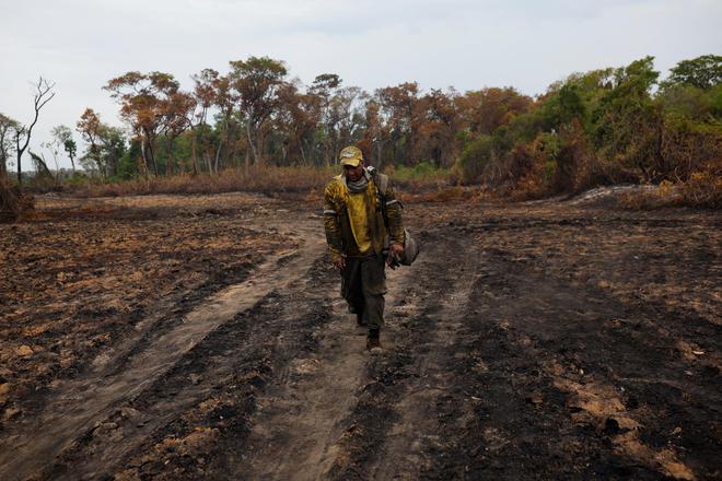
[[[454, 388], [447, 365], [454, 360], [452, 348], [467, 305], [473, 302], [476, 269], [469, 259], [478, 258], [478, 251], [457, 241], [443, 243], [443, 250], [440, 247], [432, 248], [434, 262], [418, 266], [414, 277], [414, 282], [420, 284], [414, 297], [433, 302], [424, 307], [423, 302], [415, 305], [411, 297], [392, 312], [393, 331], [403, 336], [403, 348], [412, 353], [414, 362], [408, 366], [411, 376], [403, 383], [403, 392], [393, 407], [397, 421], [386, 434], [375, 466], [369, 468], [371, 479], [419, 479], [433, 466], [431, 454], [443, 442], [435, 407]], [[442, 267], [445, 274], [440, 275]]]

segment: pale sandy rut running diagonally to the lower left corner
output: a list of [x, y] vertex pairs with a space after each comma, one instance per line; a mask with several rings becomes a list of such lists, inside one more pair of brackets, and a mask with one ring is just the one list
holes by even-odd
[[[232, 319], [237, 313], [253, 307], [272, 290], [283, 289], [307, 271], [313, 259], [322, 253], [322, 239], [316, 230], [301, 230], [307, 236], [301, 248], [280, 259], [261, 265], [247, 281], [232, 285], [196, 309], [184, 316], [170, 331], [163, 332], [133, 352], [130, 359], [120, 355], [117, 360], [103, 363], [102, 369], [92, 369], [85, 376], [70, 379], [56, 388], [49, 402], [32, 423], [13, 426], [3, 433], [0, 444], [0, 478], [22, 480], [34, 472], [53, 472], [56, 457], [66, 450], [72, 451], [83, 445], [88, 436], [113, 424], [127, 401], [142, 397], [156, 379], [168, 373], [176, 362], [200, 342], [208, 332]], [[150, 326], [149, 329], [152, 329]], [[139, 337], [142, 339], [142, 336]], [[143, 340], [143, 342], [147, 342]], [[119, 364], [123, 368], [118, 368]], [[221, 375], [222, 373], [219, 373]], [[206, 388], [206, 390], [203, 390]], [[165, 415], [133, 417], [136, 429], [123, 439], [110, 439], [88, 457], [81, 465], [73, 466], [72, 477], [105, 469], [109, 460], [121, 458], [154, 429], [164, 425], [174, 413], [207, 394], [208, 383], [188, 392], [187, 397], [164, 399]], [[127, 410], [126, 410], [127, 412]]]

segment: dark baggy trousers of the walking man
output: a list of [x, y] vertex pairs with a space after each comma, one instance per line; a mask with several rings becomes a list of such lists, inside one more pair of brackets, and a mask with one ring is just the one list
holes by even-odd
[[341, 272], [341, 296], [349, 310], [362, 314], [369, 329], [381, 329], [384, 324], [384, 294], [386, 274], [383, 256], [349, 257]]

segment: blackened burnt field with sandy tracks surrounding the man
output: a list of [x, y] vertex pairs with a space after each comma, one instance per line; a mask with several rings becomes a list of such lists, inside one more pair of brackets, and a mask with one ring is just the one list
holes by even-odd
[[722, 478], [722, 215], [414, 203], [385, 350], [321, 218], [47, 198], [0, 226], [0, 479]]

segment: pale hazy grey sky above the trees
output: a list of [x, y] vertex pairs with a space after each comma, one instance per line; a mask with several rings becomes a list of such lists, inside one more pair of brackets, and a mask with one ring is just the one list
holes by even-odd
[[721, 0], [0, 0], [0, 113], [28, 121], [32, 82], [56, 83], [35, 150], [85, 107], [120, 125], [101, 87], [130, 70], [190, 87], [203, 68], [269, 56], [304, 83], [330, 72], [369, 91], [417, 81], [534, 95], [647, 55], [664, 75], [679, 60], [722, 55]]

